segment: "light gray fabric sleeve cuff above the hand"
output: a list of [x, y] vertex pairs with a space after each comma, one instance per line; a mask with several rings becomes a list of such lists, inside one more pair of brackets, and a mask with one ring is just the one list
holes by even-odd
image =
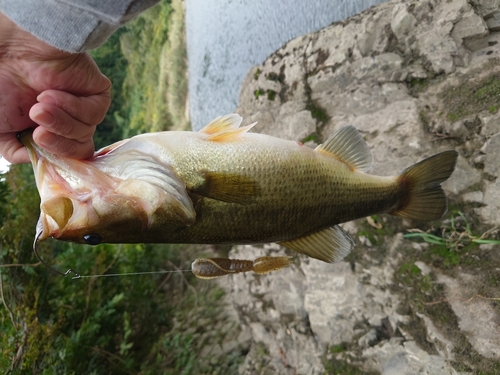
[[0, 11], [44, 42], [68, 52], [103, 44], [159, 0], [0, 0]]

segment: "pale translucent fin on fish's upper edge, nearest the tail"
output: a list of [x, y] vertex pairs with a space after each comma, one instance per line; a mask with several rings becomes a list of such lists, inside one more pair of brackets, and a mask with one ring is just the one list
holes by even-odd
[[341, 128], [315, 151], [333, 156], [353, 170], [366, 172], [373, 164], [368, 145], [352, 125]]

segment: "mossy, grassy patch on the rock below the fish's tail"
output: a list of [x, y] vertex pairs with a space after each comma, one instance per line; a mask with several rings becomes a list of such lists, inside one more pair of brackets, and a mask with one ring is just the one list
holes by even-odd
[[[495, 239], [498, 238], [496, 234], [498, 228], [481, 229], [480, 223], [475, 222], [473, 213], [468, 212], [466, 207], [452, 210], [449, 220], [441, 222], [441, 227], [431, 227], [425, 232], [414, 230], [405, 234], [404, 237], [424, 243], [426, 246], [421, 251], [411, 247], [400, 251], [402, 261], [394, 274], [392, 288], [403, 297], [398, 307], [399, 312], [414, 317], [404, 325], [404, 330], [420, 347], [429, 353], [436, 351], [436, 347], [430, 344], [426, 337], [425, 324], [415, 317], [416, 313], [431, 318], [447, 338], [459, 343], [454, 351], [455, 370], [496, 374], [500, 369], [500, 363], [481, 356], [461, 330], [457, 329], [459, 325], [457, 317], [450, 301], [446, 298], [445, 286], [439, 282], [437, 276], [440, 274], [453, 277], [457, 275], [457, 271], [464, 274], [476, 272], [475, 275], [481, 277], [481, 280], [471, 292], [476, 290], [477, 294], [464, 296], [470, 298], [467, 303], [474, 303], [475, 298], [483, 298], [490, 300], [493, 306], [497, 306], [496, 301], [499, 300], [497, 249], [480, 245], [500, 244], [500, 240]], [[420, 265], [417, 267], [416, 261], [428, 265], [428, 271], [421, 269]], [[471, 364], [471, 367], [467, 364]]]

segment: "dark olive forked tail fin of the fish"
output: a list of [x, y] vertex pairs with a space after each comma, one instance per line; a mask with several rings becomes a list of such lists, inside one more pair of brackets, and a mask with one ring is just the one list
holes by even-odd
[[457, 152], [444, 151], [406, 168], [398, 180], [405, 192], [391, 215], [417, 220], [437, 220], [448, 206], [441, 183], [450, 177]]

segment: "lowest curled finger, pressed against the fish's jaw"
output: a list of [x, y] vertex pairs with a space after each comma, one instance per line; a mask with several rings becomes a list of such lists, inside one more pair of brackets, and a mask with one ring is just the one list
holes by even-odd
[[80, 142], [54, 134], [39, 126], [33, 132], [33, 139], [48, 152], [73, 159], [88, 159], [94, 154], [92, 138]]

